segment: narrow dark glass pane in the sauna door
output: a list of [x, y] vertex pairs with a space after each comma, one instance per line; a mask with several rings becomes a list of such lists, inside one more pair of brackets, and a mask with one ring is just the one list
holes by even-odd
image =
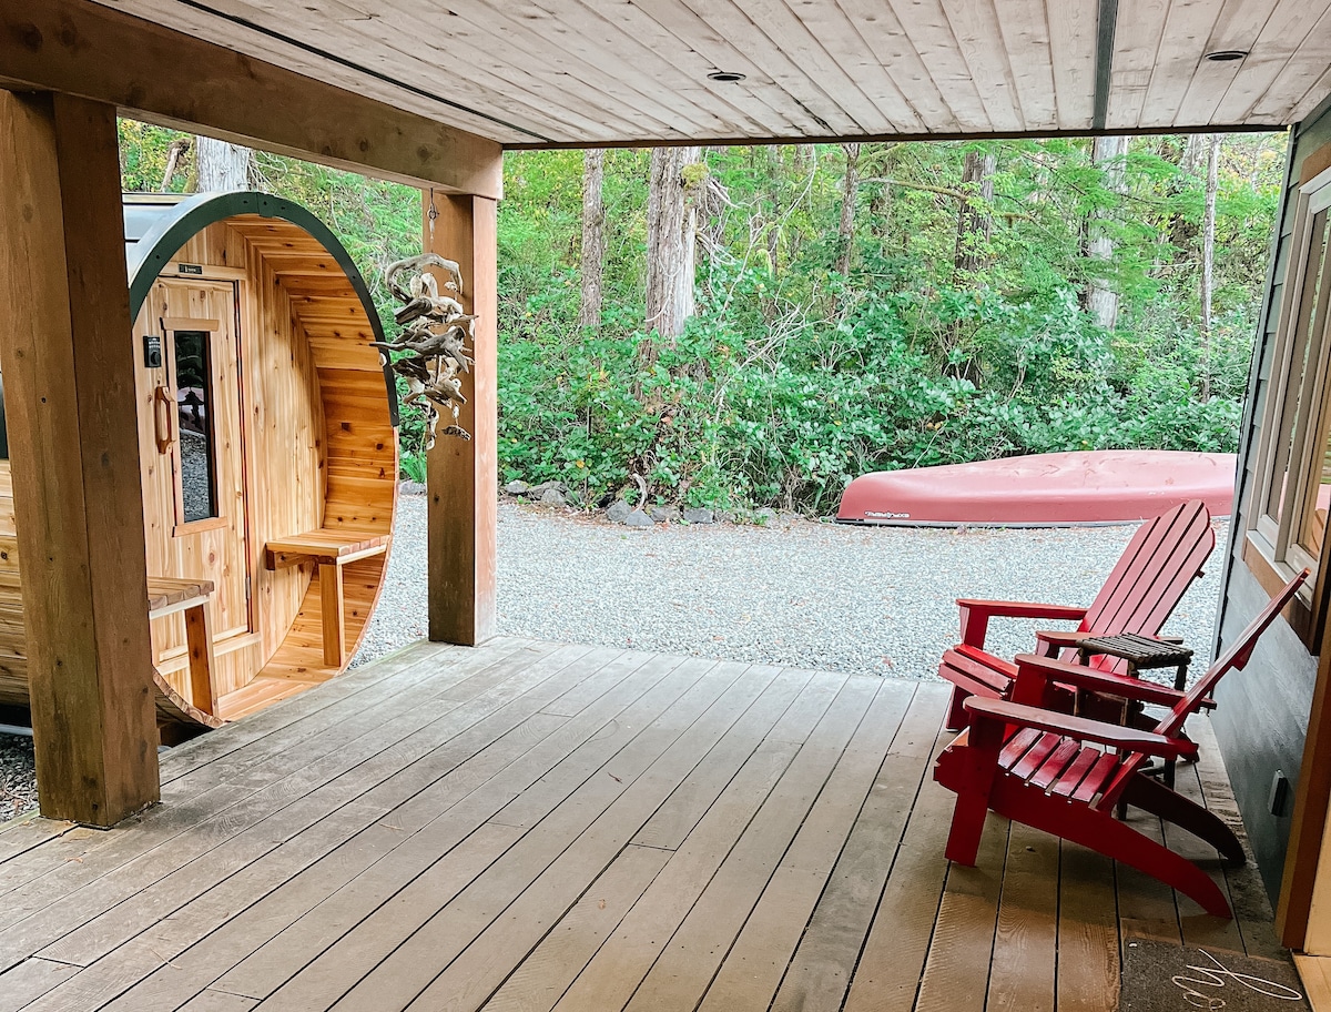
[[176, 332], [176, 410], [184, 523], [217, 515], [212, 356], [206, 330]]

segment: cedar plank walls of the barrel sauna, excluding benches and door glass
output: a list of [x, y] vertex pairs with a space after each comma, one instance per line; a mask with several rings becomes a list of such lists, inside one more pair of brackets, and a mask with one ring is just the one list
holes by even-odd
[[[266, 213], [294, 208], [257, 194], [226, 194], [229, 206], [252, 198]], [[136, 204], [137, 202], [137, 204]], [[193, 198], [192, 205], [208, 198]], [[156, 206], [154, 206], [156, 205]], [[321, 527], [349, 537], [390, 535], [397, 505], [395, 405], [378, 352], [382, 337], [363, 282], [345, 252], [327, 249], [298, 224], [258, 213], [206, 224], [156, 261], [134, 248], [133, 213], [178, 214], [185, 205], [126, 197], [132, 290], [141, 292], [133, 328], [140, 466], [148, 575], [210, 579], [216, 716], [260, 710], [326, 680], [319, 581], [315, 566], [268, 570], [264, 547]], [[298, 209], [297, 209], [298, 210]], [[301, 220], [310, 224], [302, 212]], [[157, 222], [142, 241], [160, 238]], [[168, 233], [169, 236], [170, 233]], [[335, 240], [331, 240], [335, 244]], [[174, 240], [169, 245], [176, 245]], [[161, 261], [165, 257], [165, 264]], [[142, 261], [136, 284], [134, 264]], [[339, 262], [341, 261], [341, 262]], [[160, 273], [154, 268], [160, 266]], [[148, 270], [150, 277], [144, 277]], [[359, 293], [358, 293], [359, 288]], [[137, 297], [136, 292], [136, 297]], [[132, 300], [133, 301], [133, 300]], [[158, 437], [176, 403], [170, 352], [180, 333], [205, 333], [212, 358], [212, 434], [216, 518], [181, 523], [178, 451]], [[161, 340], [164, 362], [148, 365], [145, 337]], [[177, 344], [173, 344], [177, 342]], [[174, 398], [172, 398], [174, 401]], [[174, 443], [197, 438], [178, 431]], [[174, 461], [174, 463], [173, 463]], [[343, 567], [347, 656], [363, 636], [383, 582], [387, 554]], [[152, 622], [162, 722], [200, 722], [189, 699], [185, 622]], [[21, 581], [15, 543], [8, 459], [0, 461], [0, 703], [27, 703]], [[202, 720], [202, 723], [218, 723]], [[165, 732], [164, 732], [165, 734]]]

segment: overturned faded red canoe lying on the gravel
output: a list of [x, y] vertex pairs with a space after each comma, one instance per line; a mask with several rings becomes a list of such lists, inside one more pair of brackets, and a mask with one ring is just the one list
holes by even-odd
[[1202, 499], [1234, 506], [1231, 453], [1091, 450], [864, 474], [841, 495], [841, 523], [1053, 527], [1129, 523]]

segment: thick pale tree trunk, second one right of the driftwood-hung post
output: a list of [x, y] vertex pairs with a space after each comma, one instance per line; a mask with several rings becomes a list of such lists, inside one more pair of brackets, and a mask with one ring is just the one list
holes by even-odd
[[[696, 165], [701, 148], [652, 150], [647, 200], [647, 330], [673, 342], [693, 316], [693, 233], [697, 212], [685, 169]], [[644, 341], [646, 365], [656, 361], [654, 341]]]

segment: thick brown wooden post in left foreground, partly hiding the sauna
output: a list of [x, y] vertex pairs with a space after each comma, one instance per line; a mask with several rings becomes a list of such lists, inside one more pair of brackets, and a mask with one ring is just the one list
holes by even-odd
[[116, 111], [0, 91], [0, 372], [41, 814], [157, 800]]

